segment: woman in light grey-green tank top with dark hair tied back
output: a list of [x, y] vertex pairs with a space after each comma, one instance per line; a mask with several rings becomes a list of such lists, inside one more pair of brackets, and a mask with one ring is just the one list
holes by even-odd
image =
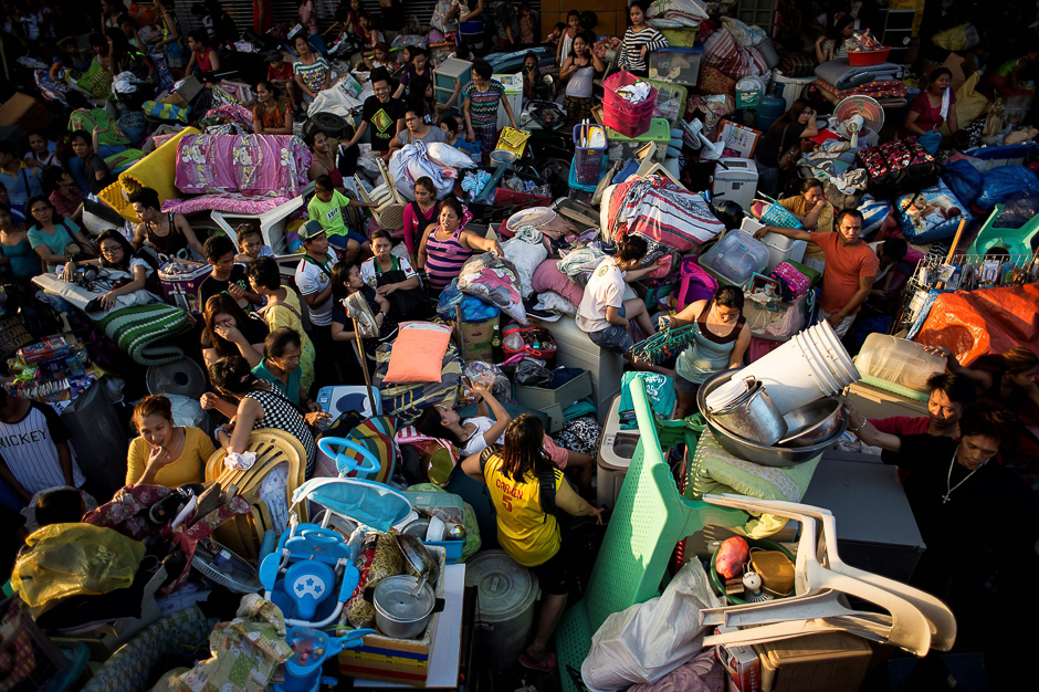
[[693, 326], [692, 343], [675, 361], [676, 420], [696, 412], [696, 391], [712, 375], [743, 367], [751, 327], [743, 316], [743, 291], [722, 286], [711, 301], [696, 301], [673, 317], [672, 327]]

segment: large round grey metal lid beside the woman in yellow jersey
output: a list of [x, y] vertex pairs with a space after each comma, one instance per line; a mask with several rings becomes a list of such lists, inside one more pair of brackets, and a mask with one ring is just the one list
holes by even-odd
[[505, 551], [483, 551], [465, 563], [465, 586], [475, 586], [483, 622], [512, 620], [534, 607], [534, 573], [508, 557]]

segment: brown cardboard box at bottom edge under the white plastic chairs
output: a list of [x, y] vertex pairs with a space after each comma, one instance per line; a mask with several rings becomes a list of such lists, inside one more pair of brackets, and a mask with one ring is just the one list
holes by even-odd
[[763, 692], [856, 692], [873, 656], [864, 640], [847, 632], [755, 644], [754, 650], [762, 661]]

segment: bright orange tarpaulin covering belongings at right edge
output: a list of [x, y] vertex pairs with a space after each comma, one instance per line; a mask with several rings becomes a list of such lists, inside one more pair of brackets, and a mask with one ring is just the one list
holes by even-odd
[[1039, 355], [1039, 284], [942, 294], [916, 342], [945, 346], [966, 366], [1015, 346]]

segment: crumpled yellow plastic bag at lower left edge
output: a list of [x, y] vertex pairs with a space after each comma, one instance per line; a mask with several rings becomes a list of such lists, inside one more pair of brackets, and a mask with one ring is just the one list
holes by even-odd
[[128, 587], [145, 545], [93, 524], [52, 524], [32, 533], [14, 564], [11, 586], [30, 607], [67, 596], [107, 594]]

